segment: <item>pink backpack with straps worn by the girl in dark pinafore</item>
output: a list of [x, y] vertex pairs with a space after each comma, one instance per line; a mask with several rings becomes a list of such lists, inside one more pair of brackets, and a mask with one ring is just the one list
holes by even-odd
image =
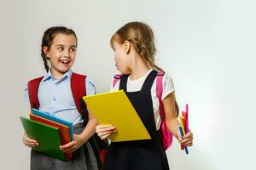
[[[156, 95], [159, 99], [160, 104], [160, 116], [162, 118], [162, 122], [160, 125], [161, 130], [161, 143], [165, 150], [167, 150], [172, 145], [172, 133], [169, 131], [168, 127], [166, 126], [166, 117], [165, 117], [165, 111], [163, 107], [163, 101], [161, 99], [161, 96], [163, 94], [163, 77], [165, 75], [164, 71], [159, 71], [157, 73], [156, 77]], [[119, 81], [119, 79], [122, 77], [122, 75], [115, 75], [113, 79], [112, 87], [115, 86], [115, 84]]]

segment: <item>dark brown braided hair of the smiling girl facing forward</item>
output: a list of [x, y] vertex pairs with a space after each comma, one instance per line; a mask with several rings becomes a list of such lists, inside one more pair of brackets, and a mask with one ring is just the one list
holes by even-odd
[[72, 29], [68, 29], [67, 27], [64, 27], [64, 26], [54, 26], [44, 31], [44, 36], [42, 38], [42, 44], [41, 44], [41, 57], [44, 61], [44, 69], [46, 71], [49, 71], [49, 65], [47, 64], [47, 57], [44, 54], [44, 47], [50, 48], [55, 38], [55, 35], [58, 33], [73, 35], [76, 38], [76, 45], [78, 46], [78, 37], [76, 36], [76, 33]]

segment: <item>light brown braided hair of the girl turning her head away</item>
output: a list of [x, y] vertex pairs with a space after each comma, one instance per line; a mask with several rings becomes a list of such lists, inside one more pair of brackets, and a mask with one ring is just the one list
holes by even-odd
[[[110, 39], [110, 45], [113, 48], [113, 41], [119, 42], [119, 44], [125, 41], [131, 42], [137, 54], [139, 54], [149, 65], [157, 71], [163, 71], [160, 67], [154, 63], [154, 54], [156, 48], [154, 45], [154, 33], [150, 26], [143, 22], [129, 22], [116, 31]], [[178, 115], [178, 105], [175, 99], [176, 116]]]

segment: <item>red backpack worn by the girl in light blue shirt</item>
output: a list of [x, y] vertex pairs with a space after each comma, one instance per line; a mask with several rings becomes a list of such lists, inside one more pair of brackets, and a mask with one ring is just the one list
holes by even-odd
[[[38, 77], [36, 79], [31, 80], [27, 84], [28, 88], [28, 96], [31, 108], [39, 109], [39, 101], [38, 101], [38, 88], [41, 80], [44, 77]], [[86, 95], [86, 88], [85, 88], [85, 75], [80, 75], [78, 73], [72, 74], [70, 86], [71, 91], [73, 94], [73, 99], [75, 102], [75, 105], [77, 107], [77, 110], [82, 115], [82, 118], [84, 119], [84, 126], [86, 126], [88, 122], [88, 111], [87, 106], [84, 103], [84, 100], [82, 97]], [[94, 150], [96, 161], [98, 164], [98, 167], [102, 167], [102, 162], [105, 158], [105, 151], [108, 149], [108, 142], [100, 139], [96, 133], [90, 137], [88, 140]]]

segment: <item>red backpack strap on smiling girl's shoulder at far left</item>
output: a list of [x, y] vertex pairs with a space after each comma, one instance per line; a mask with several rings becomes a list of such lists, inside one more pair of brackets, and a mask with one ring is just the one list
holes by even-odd
[[35, 78], [27, 83], [28, 97], [31, 109], [39, 109], [38, 88], [44, 77]]

